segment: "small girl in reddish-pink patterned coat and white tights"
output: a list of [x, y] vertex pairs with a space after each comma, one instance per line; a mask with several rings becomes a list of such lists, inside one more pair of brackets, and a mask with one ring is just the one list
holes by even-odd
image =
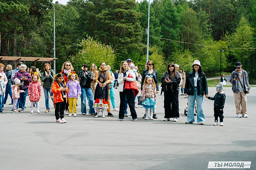
[[31, 102], [31, 112], [30, 113], [33, 113], [34, 102], [37, 103], [37, 113], [40, 113], [38, 101], [41, 98], [41, 95], [42, 95], [42, 93], [41, 93], [40, 84], [38, 83], [38, 76], [33, 75], [32, 82], [29, 84], [29, 87], [28, 87], [28, 96], [29, 96], [29, 100]]

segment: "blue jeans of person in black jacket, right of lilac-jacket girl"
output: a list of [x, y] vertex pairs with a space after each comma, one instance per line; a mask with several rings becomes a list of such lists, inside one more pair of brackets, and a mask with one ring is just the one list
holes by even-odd
[[91, 88], [85, 88], [85, 87], [81, 87], [81, 91], [82, 94], [80, 96], [81, 98], [81, 112], [86, 113], [86, 96], [87, 96], [87, 100], [89, 103], [89, 113], [90, 114], [95, 114], [95, 110], [94, 108], [92, 108], [92, 106], [94, 105], [94, 94], [92, 94], [92, 90]]

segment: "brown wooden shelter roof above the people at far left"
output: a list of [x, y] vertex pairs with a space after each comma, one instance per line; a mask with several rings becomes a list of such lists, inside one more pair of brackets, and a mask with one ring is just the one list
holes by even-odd
[[22, 61], [26, 64], [26, 61], [34, 62], [34, 66], [37, 65], [37, 62], [48, 62], [52, 65], [53, 61], [57, 58], [44, 58], [44, 57], [11, 57], [11, 56], [0, 56], [0, 63], [3, 63], [6, 66], [6, 61], [12, 61], [13, 68], [16, 68], [17, 63]]

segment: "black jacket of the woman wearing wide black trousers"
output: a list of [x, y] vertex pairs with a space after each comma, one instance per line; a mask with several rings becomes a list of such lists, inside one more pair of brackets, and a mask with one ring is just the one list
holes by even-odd
[[[166, 71], [164, 73], [164, 75], [162, 75], [162, 78], [161, 78], [161, 87], [163, 88], [164, 91], [177, 91], [179, 90], [179, 84], [180, 84], [180, 81], [181, 81], [181, 75], [177, 72], [177, 77], [170, 77], [170, 74], [168, 73], [168, 71]], [[169, 77], [170, 79], [170, 83], [166, 83], [165, 80], [167, 80], [167, 78]]]

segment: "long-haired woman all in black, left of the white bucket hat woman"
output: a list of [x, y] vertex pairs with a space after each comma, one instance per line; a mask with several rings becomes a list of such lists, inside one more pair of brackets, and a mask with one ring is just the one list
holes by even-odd
[[179, 84], [181, 81], [181, 75], [176, 71], [173, 63], [169, 63], [167, 71], [162, 75], [161, 83], [164, 90], [164, 108], [165, 119], [164, 121], [170, 121], [173, 118], [173, 122], [178, 121], [179, 115]]

